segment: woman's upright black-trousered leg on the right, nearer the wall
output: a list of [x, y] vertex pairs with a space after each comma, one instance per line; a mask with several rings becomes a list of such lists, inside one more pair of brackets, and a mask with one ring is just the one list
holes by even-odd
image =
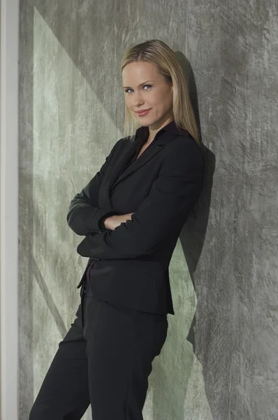
[[85, 297], [89, 394], [94, 420], [143, 420], [152, 360], [166, 340], [167, 316]]

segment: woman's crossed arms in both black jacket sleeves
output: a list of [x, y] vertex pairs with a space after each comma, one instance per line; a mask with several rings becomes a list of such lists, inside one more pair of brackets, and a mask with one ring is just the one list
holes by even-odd
[[119, 214], [99, 209], [97, 201], [101, 181], [118, 143], [100, 171], [81, 193], [75, 195], [69, 207], [68, 225], [78, 235], [87, 235], [77, 248], [84, 257], [119, 260], [152, 253], [156, 244], [176, 225], [185, 223], [203, 186], [203, 153], [193, 139], [180, 137], [166, 146], [159, 176], [149, 195], [131, 215], [131, 220], [121, 223], [115, 230], [102, 232], [99, 230], [101, 220]]

